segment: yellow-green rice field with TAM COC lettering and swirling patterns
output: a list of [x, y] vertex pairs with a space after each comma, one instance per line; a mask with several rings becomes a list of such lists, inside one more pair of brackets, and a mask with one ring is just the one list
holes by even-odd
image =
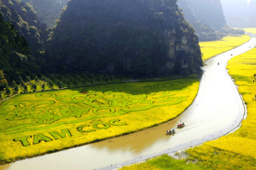
[[193, 102], [198, 88], [198, 79], [183, 78], [15, 96], [0, 103], [0, 163], [169, 121]]

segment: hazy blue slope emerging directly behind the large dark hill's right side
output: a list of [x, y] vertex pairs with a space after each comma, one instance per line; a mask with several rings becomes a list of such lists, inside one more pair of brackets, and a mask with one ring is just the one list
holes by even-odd
[[188, 21], [189, 24], [191, 24], [195, 29], [195, 33], [199, 41], [215, 41], [218, 39], [214, 29], [212, 29], [209, 25], [201, 23], [195, 18], [186, 0], [179, 0], [177, 5], [182, 9], [186, 21]]

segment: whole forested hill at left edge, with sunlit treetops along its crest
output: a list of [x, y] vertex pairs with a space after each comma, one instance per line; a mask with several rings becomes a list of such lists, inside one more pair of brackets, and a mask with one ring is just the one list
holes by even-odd
[[2, 26], [7, 24], [0, 24], [0, 70], [7, 81], [40, 73], [44, 58], [39, 55], [47, 36], [46, 25], [37, 19], [33, 6], [18, 0], [0, 0], [0, 13]]

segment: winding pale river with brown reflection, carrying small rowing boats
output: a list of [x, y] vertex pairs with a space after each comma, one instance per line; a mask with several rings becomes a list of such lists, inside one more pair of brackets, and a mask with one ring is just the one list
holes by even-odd
[[[247, 34], [250, 41], [205, 62], [197, 97], [175, 120], [122, 137], [1, 165], [0, 169], [112, 169], [119, 163], [129, 164], [168, 148], [179, 150], [226, 134], [236, 128], [246, 113], [226, 65], [231, 57], [256, 47], [256, 35]], [[165, 134], [180, 122], [186, 126], [174, 135]]]

